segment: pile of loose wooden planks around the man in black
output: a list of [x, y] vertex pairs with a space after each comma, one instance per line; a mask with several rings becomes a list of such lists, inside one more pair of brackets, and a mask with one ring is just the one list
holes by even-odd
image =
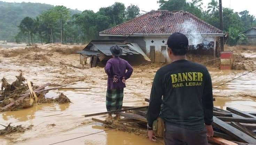
[[[145, 101], [149, 102], [149, 99], [145, 99]], [[123, 106], [123, 111], [120, 112], [123, 118], [118, 120], [118, 123], [115, 122], [118, 125], [110, 127], [119, 128], [126, 126], [130, 130], [140, 130], [140, 132], [144, 132], [146, 135], [146, 113], [147, 107]], [[212, 126], [214, 127], [215, 134], [208, 141], [217, 145], [256, 145], [255, 115], [256, 112], [240, 111], [232, 107], [227, 107], [226, 110], [214, 107], [214, 122]], [[90, 114], [87, 116], [93, 115]], [[106, 122], [103, 118], [92, 119], [101, 123]]]

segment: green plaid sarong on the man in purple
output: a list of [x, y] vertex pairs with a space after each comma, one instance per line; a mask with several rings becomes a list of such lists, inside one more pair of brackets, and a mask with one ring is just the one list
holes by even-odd
[[121, 110], [123, 107], [124, 89], [108, 89], [106, 98], [107, 111]]

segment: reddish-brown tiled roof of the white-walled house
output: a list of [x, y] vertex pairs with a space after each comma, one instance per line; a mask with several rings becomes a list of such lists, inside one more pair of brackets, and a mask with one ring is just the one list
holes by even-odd
[[[191, 25], [192, 24], [192, 25]], [[194, 26], [187, 29], [186, 26]], [[132, 35], [132, 34], [223, 34], [223, 31], [204, 22], [186, 11], [156, 10], [143, 14], [130, 21], [100, 32], [100, 35]]]

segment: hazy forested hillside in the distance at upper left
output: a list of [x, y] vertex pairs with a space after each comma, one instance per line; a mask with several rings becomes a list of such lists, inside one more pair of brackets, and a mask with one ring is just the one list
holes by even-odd
[[[36, 18], [43, 11], [53, 6], [42, 3], [11, 3], [0, 1], [0, 40], [15, 41], [15, 35], [19, 32], [18, 26], [24, 17]], [[82, 13], [79, 10], [71, 10], [71, 15]]]

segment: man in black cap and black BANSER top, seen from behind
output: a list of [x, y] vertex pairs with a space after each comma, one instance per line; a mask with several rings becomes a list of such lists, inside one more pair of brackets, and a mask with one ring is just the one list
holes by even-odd
[[214, 131], [211, 76], [206, 67], [186, 60], [188, 39], [174, 33], [167, 42], [172, 63], [159, 69], [152, 84], [147, 112], [148, 137], [153, 121], [165, 122], [165, 145], [207, 145]]

